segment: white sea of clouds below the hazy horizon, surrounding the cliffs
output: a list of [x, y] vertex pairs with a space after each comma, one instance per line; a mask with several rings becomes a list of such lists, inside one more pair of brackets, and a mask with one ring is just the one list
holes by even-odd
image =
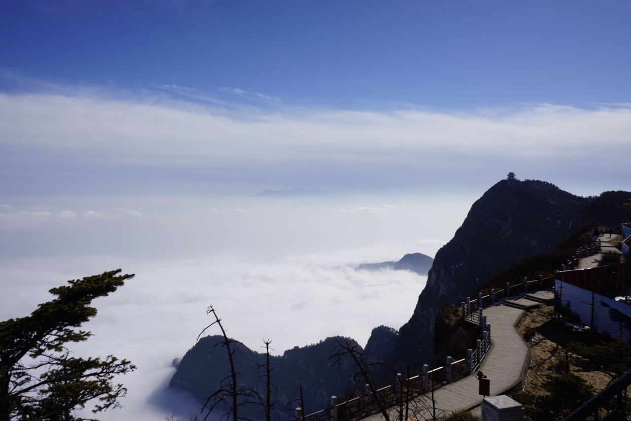
[[[470, 199], [182, 196], [13, 198], [0, 209], [0, 317], [25, 316], [68, 279], [122, 268], [135, 273], [94, 304], [94, 336], [76, 355], [130, 359], [124, 408], [103, 419], [163, 419], [199, 410], [167, 389], [172, 360], [191, 348], [214, 305], [228, 335], [274, 353], [399, 328], [426, 276], [357, 270], [406, 252], [433, 256]], [[210, 331], [218, 334], [218, 331]]]

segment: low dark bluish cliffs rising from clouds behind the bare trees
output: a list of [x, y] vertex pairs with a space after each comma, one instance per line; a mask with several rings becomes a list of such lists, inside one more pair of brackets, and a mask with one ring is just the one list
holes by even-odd
[[[331, 351], [340, 340], [344, 338], [327, 338], [315, 345], [287, 350], [281, 357], [271, 357], [274, 408], [281, 418], [291, 415], [291, 409], [300, 406], [293, 402], [300, 396], [300, 385], [307, 413], [326, 408], [331, 396], [340, 396], [353, 387], [350, 379], [356, 368], [350, 357], [336, 365], [329, 361]], [[179, 362], [169, 386], [186, 389], [200, 402], [206, 401], [220, 388], [221, 380], [230, 375], [230, 364], [221, 343], [222, 336], [201, 338]], [[254, 389], [264, 397], [266, 388], [259, 367], [265, 362], [265, 354], [253, 352], [240, 343], [233, 343], [233, 346], [237, 350], [235, 365], [240, 387]], [[245, 405], [240, 411], [242, 415], [257, 419], [262, 407]]]

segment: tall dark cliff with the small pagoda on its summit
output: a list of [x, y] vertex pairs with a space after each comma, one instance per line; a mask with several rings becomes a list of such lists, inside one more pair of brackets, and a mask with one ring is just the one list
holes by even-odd
[[586, 202], [543, 181], [503, 180], [491, 187], [437, 252], [414, 314], [399, 329], [394, 359], [415, 367], [428, 362], [437, 309], [459, 305], [505, 266], [558, 246], [584, 220]]

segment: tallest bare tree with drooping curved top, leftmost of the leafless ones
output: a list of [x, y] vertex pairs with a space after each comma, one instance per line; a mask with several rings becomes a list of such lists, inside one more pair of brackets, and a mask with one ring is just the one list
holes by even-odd
[[226, 334], [226, 331], [223, 328], [223, 325], [221, 324], [221, 319], [217, 315], [217, 312], [215, 311], [212, 305], [210, 305], [208, 309], [206, 309], [206, 314], [212, 314], [215, 317], [215, 321], [213, 321], [213, 323], [206, 326], [199, 333], [197, 341], [199, 341], [199, 338], [201, 337], [201, 335], [203, 335], [204, 332], [208, 328], [210, 328], [214, 324], [218, 325], [219, 328], [221, 329], [221, 335], [223, 335], [223, 341], [221, 341], [217, 345], [221, 345], [221, 347], [224, 347], [226, 349], [226, 353], [228, 355], [228, 362], [230, 362], [230, 374], [228, 374], [228, 376], [221, 379], [219, 388], [215, 392], [213, 392], [210, 396], [208, 396], [208, 398], [206, 398], [206, 401], [204, 402], [204, 406], [201, 408], [201, 412], [204, 412], [204, 410], [208, 410], [208, 413], [206, 413], [206, 417], [204, 417], [204, 421], [208, 419], [208, 416], [210, 415], [210, 413], [213, 412], [213, 410], [215, 410], [215, 408], [220, 404], [223, 405], [226, 410], [226, 413], [221, 417], [222, 420], [224, 417], [230, 418], [230, 414], [232, 414], [233, 421], [239, 421], [239, 420], [251, 421], [249, 420], [249, 418], [239, 417], [239, 408], [241, 408], [242, 406], [248, 405], [249, 403], [252, 403], [253, 399], [256, 399], [257, 397], [259, 397], [256, 391], [254, 391], [253, 389], [240, 388], [239, 385], [237, 384], [237, 377], [239, 377], [239, 374], [237, 373], [237, 370], [235, 369], [235, 353], [237, 352], [237, 350], [234, 347], [232, 347], [232, 344], [233, 343], [239, 343], [240, 345], [243, 345], [243, 344], [237, 340], [228, 338], [228, 335]]

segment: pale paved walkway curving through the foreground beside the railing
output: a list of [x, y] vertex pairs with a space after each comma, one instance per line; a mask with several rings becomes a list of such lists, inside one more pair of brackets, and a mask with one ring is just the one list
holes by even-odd
[[[548, 293], [550, 295], [551, 293]], [[549, 299], [546, 294], [541, 298]], [[552, 294], [553, 295], [553, 294]], [[524, 302], [527, 299], [519, 299], [521, 304], [531, 307], [533, 301]], [[536, 303], [540, 304], [540, 303]], [[495, 305], [483, 310], [487, 316], [487, 323], [491, 325], [492, 346], [487, 357], [482, 362], [480, 371], [490, 380], [491, 395], [502, 394], [514, 388], [526, 376], [530, 351], [526, 342], [517, 332], [515, 325], [524, 314], [523, 309], [509, 307], [508, 305]], [[459, 410], [469, 410], [482, 402], [483, 396], [478, 394], [478, 379], [475, 376], [465, 377], [457, 382], [443, 386], [434, 392], [437, 416], [448, 415]], [[410, 403], [410, 411], [414, 412], [417, 420], [431, 419], [432, 402], [430, 394], [420, 396]], [[396, 418], [396, 409], [391, 409], [391, 419]], [[365, 418], [367, 421], [383, 420], [381, 414]]]

